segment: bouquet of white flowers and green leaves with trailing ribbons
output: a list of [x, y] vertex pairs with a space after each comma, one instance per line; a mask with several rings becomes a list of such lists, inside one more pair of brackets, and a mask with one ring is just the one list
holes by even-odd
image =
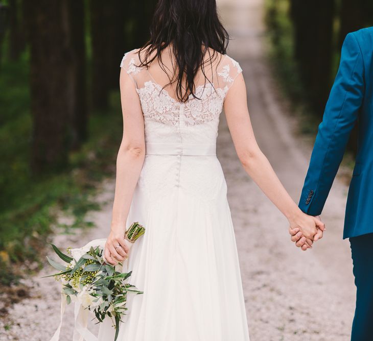
[[[129, 250], [133, 242], [144, 233], [145, 228], [137, 222], [129, 227], [125, 234]], [[78, 339], [78, 334], [79, 339], [82, 339], [81, 337], [89, 340], [97, 339], [87, 329], [87, 313], [90, 311], [95, 314], [98, 322], [103, 322], [107, 316], [113, 321], [115, 341], [122, 315], [127, 310], [127, 294], [143, 294], [126, 281], [132, 272], [123, 272], [123, 263], [113, 266], [105, 261], [105, 242], [106, 239], [92, 240], [83, 248], [68, 248], [67, 254], [51, 244], [58, 257], [67, 263], [60, 264], [46, 257], [59, 272], [45, 277], [53, 276], [62, 283], [61, 322], [51, 341], [59, 339], [65, 304], [71, 302], [75, 303], [74, 340]]]

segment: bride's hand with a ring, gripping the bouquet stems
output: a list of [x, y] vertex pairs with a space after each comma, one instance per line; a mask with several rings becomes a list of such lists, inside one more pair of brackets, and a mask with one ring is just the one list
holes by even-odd
[[124, 239], [125, 231], [122, 229], [111, 229], [105, 244], [105, 259], [111, 265], [117, 265], [128, 257], [128, 246]]

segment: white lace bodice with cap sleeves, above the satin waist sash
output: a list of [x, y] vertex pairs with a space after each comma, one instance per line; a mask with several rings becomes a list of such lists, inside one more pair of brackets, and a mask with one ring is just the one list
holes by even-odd
[[[165, 74], [159, 67], [138, 67], [138, 50], [127, 52], [121, 62], [132, 79], [141, 102], [145, 120], [147, 143], [215, 144], [218, 135], [219, 116], [225, 97], [236, 77], [242, 72], [237, 61], [222, 55], [219, 62], [205, 73], [211, 81], [201, 80], [195, 94], [185, 103], [163, 88]], [[156, 61], [153, 64], [157, 64]], [[156, 81], [155, 79], [158, 79]], [[162, 80], [161, 80], [162, 79]]]

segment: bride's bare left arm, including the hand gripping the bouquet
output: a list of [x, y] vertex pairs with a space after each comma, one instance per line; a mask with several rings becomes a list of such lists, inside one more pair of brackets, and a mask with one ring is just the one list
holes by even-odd
[[[115, 196], [105, 258], [111, 264], [122, 261], [127, 253], [124, 234], [134, 189], [145, 159], [144, 116], [136, 89], [124, 68], [120, 76], [123, 113], [123, 138], [116, 158]], [[121, 245], [122, 248], [115, 246]], [[127, 251], [127, 250], [126, 250]]]

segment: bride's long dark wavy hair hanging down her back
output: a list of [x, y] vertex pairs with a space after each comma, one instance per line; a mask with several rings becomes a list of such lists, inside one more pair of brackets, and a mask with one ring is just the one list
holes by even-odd
[[[149, 67], [157, 58], [170, 79], [165, 87], [177, 82], [177, 99], [186, 102], [191, 94], [197, 98], [194, 80], [199, 67], [207, 79], [204, 64], [212, 63], [217, 52], [225, 55], [228, 41], [228, 33], [217, 13], [216, 0], [159, 0], [150, 26], [150, 40], [138, 51], [139, 66]], [[170, 44], [176, 61], [174, 70], [168, 69], [161, 59], [161, 52]], [[143, 50], [145, 53], [141, 57]], [[171, 76], [166, 68], [171, 71]]]

